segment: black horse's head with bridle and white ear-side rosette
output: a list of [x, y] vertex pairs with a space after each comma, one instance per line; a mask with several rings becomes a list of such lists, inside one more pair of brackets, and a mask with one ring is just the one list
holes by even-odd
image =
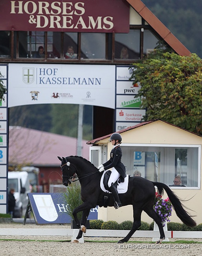
[[62, 184], [67, 187], [72, 183], [73, 174], [75, 174], [76, 168], [66, 158], [61, 158], [59, 156], [57, 158], [61, 161]]

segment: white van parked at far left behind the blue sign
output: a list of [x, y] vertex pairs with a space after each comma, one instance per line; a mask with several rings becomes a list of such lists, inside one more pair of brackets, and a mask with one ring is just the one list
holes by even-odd
[[28, 173], [26, 171], [8, 172], [8, 192], [11, 188], [15, 189], [14, 197], [16, 199], [13, 217], [22, 218], [28, 204], [27, 193], [31, 192]]

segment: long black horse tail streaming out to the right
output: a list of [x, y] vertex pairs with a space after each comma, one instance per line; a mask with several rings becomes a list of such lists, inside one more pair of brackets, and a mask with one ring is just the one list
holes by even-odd
[[161, 182], [152, 182], [154, 186], [158, 188], [158, 193], [160, 195], [163, 194], [163, 189], [165, 189], [171, 204], [173, 205], [173, 208], [176, 212], [176, 215], [181, 219], [181, 221], [190, 227], [196, 226], [196, 222], [191, 218], [193, 216], [190, 216], [187, 211], [184, 210], [182, 203], [180, 202], [179, 198], [173, 193], [173, 191], [165, 184]]

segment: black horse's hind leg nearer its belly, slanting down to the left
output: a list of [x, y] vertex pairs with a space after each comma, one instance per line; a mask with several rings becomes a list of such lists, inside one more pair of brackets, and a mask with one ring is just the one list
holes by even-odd
[[136, 230], [141, 226], [141, 213], [143, 211], [142, 205], [136, 204], [135, 206], [133, 205], [133, 225], [132, 229], [130, 230], [129, 234], [127, 234], [126, 237], [123, 239], [119, 240], [118, 243], [124, 243], [129, 241], [130, 237], [136, 232]]

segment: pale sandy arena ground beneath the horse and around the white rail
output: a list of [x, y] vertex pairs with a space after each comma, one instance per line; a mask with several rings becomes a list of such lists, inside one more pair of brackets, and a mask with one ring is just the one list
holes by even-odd
[[[69, 225], [36, 225], [34, 223], [0, 223], [2, 228], [70, 228]], [[1, 234], [1, 233], [0, 233]], [[120, 237], [84, 237], [84, 243], [71, 243], [70, 236], [1, 236], [0, 256], [201, 256], [202, 239], [169, 239], [155, 245], [150, 238], [131, 238], [130, 243], [118, 244]], [[45, 241], [44, 241], [45, 240]], [[92, 241], [100, 242], [92, 242]], [[182, 241], [193, 241], [183, 243]], [[114, 241], [109, 243], [108, 241]], [[178, 243], [171, 243], [178, 241]], [[134, 242], [134, 243], [133, 243]], [[201, 243], [195, 243], [201, 242]]]

